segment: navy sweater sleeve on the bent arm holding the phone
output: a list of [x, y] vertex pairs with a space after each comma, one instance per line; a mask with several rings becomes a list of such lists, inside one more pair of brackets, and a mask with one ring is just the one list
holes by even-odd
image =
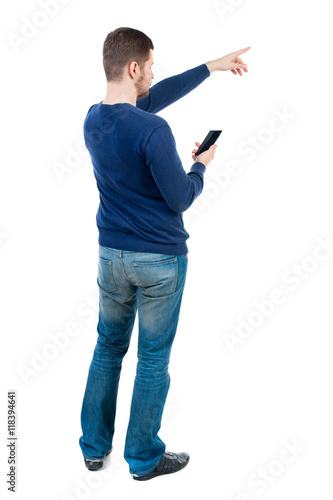
[[169, 125], [155, 128], [146, 142], [146, 164], [169, 207], [185, 212], [200, 195], [206, 166], [195, 162], [186, 173]]

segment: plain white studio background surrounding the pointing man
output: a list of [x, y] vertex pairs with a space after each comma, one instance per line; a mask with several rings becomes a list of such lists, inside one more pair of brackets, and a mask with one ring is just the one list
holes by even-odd
[[[16, 390], [16, 498], [332, 497], [333, 254], [317, 253], [333, 238], [330, 3], [70, 0], [46, 18], [41, 3], [1, 9], [2, 491], [9, 495], [7, 391]], [[15, 48], [27, 20], [44, 26]], [[98, 193], [80, 145], [88, 108], [105, 97], [103, 41], [119, 26], [152, 38], [155, 81], [251, 45], [247, 74], [213, 73], [160, 113], [186, 171], [195, 141], [223, 133], [201, 204], [184, 214], [188, 275], [160, 432], [169, 451], [191, 460], [145, 483], [122, 455], [137, 323], [108, 477], [87, 471], [78, 445], [98, 294]], [[270, 132], [276, 110], [289, 118]], [[260, 149], [245, 154], [253, 138]], [[237, 175], [219, 184], [213, 174], [230, 162]], [[68, 170], [60, 177], [57, 164]], [[268, 306], [274, 289], [283, 303]], [[258, 326], [241, 339], [237, 327], [250, 318]], [[70, 323], [76, 335], [56, 348], [50, 335]], [[226, 332], [242, 343], [228, 348]]]

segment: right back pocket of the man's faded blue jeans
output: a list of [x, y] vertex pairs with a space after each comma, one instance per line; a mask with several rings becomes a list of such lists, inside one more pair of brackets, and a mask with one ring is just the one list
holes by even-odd
[[177, 257], [154, 261], [136, 261], [139, 286], [151, 297], [166, 297], [175, 292], [178, 279]]

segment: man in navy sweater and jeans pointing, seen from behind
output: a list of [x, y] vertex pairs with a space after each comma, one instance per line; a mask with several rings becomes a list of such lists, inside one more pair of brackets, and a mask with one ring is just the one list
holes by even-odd
[[[85, 465], [98, 470], [111, 453], [121, 365], [138, 311], [138, 363], [124, 458], [145, 481], [176, 472], [187, 453], [166, 452], [158, 432], [170, 386], [168, 364], [187, 272], [189, 234], [182, 213], [203, 189], [216, 145], [186, 173], [167, 122], [156, 116], [213, 71], [247, 71], [250, 47], [167, 78], [150, 91], [153, 43], [119, 28], [103, 46], [104, 101], [91, 106], [84, 137], [100, 194], [98, 338], [83, 398], [79, 443]], [[196, 143], [196, 146], [200, 146]]]

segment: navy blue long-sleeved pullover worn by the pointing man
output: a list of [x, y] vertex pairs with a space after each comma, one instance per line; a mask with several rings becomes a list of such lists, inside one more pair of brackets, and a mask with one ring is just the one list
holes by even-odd
[[171, 255], [188, 253], [182, 212], [203, 189], [206, 167], [186, 173], [168, 123], [157, 116], [210, 75], [202, 64], [153, 85], [148, 97], [94, 104], [84, 121], [100, 204], [102, 246]]

